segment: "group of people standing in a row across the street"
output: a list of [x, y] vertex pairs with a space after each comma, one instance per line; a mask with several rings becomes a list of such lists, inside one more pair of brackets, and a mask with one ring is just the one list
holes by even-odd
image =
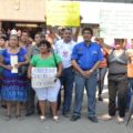
[[[88, 116], [98, 123], [95, 112], [95, 94], [102, 101], [104, 76], [109, 70], [109, 115], [104, 120], [115, 117], [119, 106], [119, 123], [124, 122], [126, 110], [126, 93], [133, 88], [133, 51], [124, 49], [124, 40], [115, 39], [115, 48], [106, 45], [102, 39], [92, 42], [93, 30], [82, 29], [83, 41], [78, 43], [80, 28], [74, 34], [70, 28], [60, 28], [59, 35], [50, 29], [52, 35], [45, 38], [41, 32], [34, 35], [34, 45], [29, 44], [29, 32], [22, 31], [21, 37], [12, 33], [0, 37], [0, 85], [1, 104], [6, 104], [6, 120], [11, 119], [12, 103], [17, 103], [16, 116], [21, 117], [21, 106], [25, 105], [25, 115], [34, 114], [34, 96], [38, 98], [40, 120], [45, 120], [47, 102], [54, 121], [61, 109], [61, 90], [63, 89], [62, 115], [71, 115], [72, 93], [74, 91], [74, 106], [71, 121], [81, 117], [84, 89], [88, 95]], [[52, 37], [52, 39], [51, 39]], [[59, 38], [60, 37], [60, 38]], [[51, 44], [54, 43], [54, 44]], [[18, 62], [12, 63], [14, 58]], [[32, 68], [57, 68], [53, 88], [32, 88]], [[130, 72], [129, 72], [130, 71]], [[73, 86], [74, 84], [74, 86]], [[116, 101], [117, 98], [117, 101]]]

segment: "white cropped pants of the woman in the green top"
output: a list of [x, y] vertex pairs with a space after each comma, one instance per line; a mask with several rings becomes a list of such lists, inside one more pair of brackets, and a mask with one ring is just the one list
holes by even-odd
[[40, 101], [48, 100], [50, 102], [57, 102], [60, 88], [60, 80], [57, 80], [54, 88], [34, 89], [34, 91]]

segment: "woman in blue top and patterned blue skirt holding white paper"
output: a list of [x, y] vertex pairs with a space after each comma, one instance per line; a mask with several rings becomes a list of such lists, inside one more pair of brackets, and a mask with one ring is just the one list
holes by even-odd
[[[12, 65], [11, 59], [14, 57], [18, 59], [18, 61], [16, 61], [18, 63]], [[10, 35], [9, 47], [3, 50], [0, 57], [0, 66], [3, 68], [1, 98], [7, 103], [6, 120], [10, 120], [12, 102], [17, 103], [17, 119], [21, 116], [21, 102], [25, 102], [27, 100], [27, 90], [24, 86], [24, 75], [20, 74], [19, 70], [28, 63], [27, 51], [19, 47], [18, 37], [14, 34]], [[18, 72], [13, 72], [13, 70], [18, 70]]]

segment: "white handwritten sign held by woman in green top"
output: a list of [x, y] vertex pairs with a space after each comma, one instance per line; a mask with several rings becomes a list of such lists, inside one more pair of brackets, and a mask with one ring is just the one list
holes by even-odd
[[32, 68], [31, 84], [33, 89], [53, 88], [57, 68]]

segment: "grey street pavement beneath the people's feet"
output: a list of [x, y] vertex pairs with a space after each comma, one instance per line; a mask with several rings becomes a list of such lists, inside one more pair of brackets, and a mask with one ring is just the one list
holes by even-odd
[[[99, 117], [108, 113], [108, 89], [104, 89], [103, 98], [103, 102], [96, 102]], [[23, 113], [22, 117], [22, 120], [17, 120], [16, 116], [12, 116], [10, 121], [6, 121], [4, 111], [0, 109], [0, 133], [133, 133], [133, 120], [127, 126], [125, 123], [117, 124], [116, 119], [112, 121], [99, 120], [99, 123], [90, 122], [88, 120], [85, 94], [82, 115], [76, 122], [71, 122], [70, 117], [63, 117], [61, 114], [59, 115], [59, 122], [54, 122], [51, 116], [48, 116], [42, 123], [37, 114], [25, 117]], [[126, 120], [127, 114], [125, 122]]]

